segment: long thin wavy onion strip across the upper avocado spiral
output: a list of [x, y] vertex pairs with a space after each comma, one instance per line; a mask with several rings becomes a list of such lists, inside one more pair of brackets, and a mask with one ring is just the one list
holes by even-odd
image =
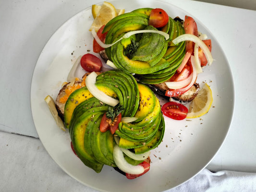
[[98, 43], [99, 46], [103, 47], [103, 48], [108, 48], [112, 45], [115, 45], [117, 42], [121, 41], [122, 39], [126, 39], [129, 38], [130, 36], [132, 36], [133, 34], [141, 34], [141, 33], [157, 33], [157, 34], [161, 34], [165, 37], [165, 39], [169, 39], [169, 34], [162, 32], [162, 31], [158, 31], [158, 30], [137, 30], [137, 31], [130, 31], [126, 34], [124, 34], [120, 39], [118, 39], [116, 42], [112, 43], [112, 44], [105, 44], [103, 43], [99, 38], [98, 35], [95, 31], [95, 29], [92, 29], [91, 31], [92, 36], [94, 37], [94, 39], [96, 40], [96, 42]]

